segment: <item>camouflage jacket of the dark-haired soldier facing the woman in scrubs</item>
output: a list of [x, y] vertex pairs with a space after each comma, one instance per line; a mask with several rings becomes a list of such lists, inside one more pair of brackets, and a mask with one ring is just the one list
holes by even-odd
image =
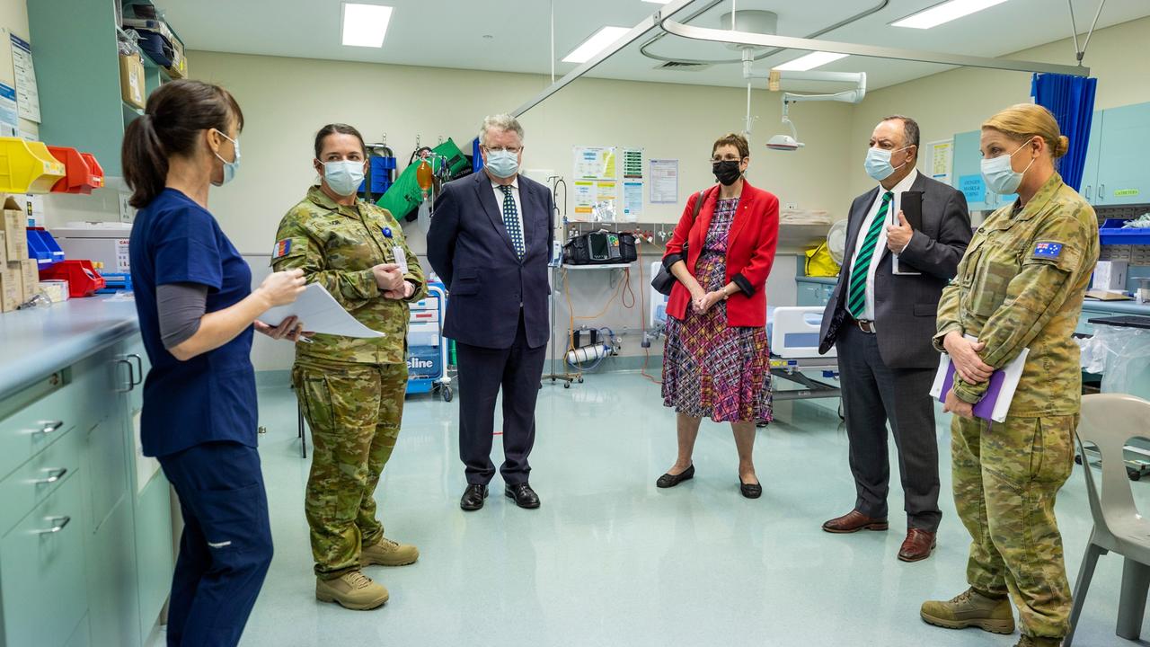
[[312, 187], [307, 198], [279, 222], [276, 241], [271, 253], [276, 272], [302, 269], [308, 283], [322, 284], [355, 319], [385, 335], [370, 340], [316, 335], [310, 344], [296, 344], [298, 361], [406, 361], [407, 303], [385, 298], [371, 267], [394, 262], [393, 248], [399, 245], [407, 254], [406, 280], [415, 284], [407, 300], [422, 298], [427, 286], [419, 259], [408, 249], [399, 222], [386, 210], [363, 200], [340, 206], [319, 187]]

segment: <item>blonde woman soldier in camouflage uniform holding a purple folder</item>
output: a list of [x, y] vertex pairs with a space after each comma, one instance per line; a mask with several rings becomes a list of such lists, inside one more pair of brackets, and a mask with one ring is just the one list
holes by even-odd
[[[1057, 646], [1070, 630], [1071, 591], [1055, 497], [1074, 463], [1081, 397], [1078, 326], [1098, 260], [1094, 210], [1063, 183], [1053, 160], [1068, 142], [1046, 108], [1019, 104], [982, 124], [987, 185], [1015, 204], [975, 233], [938, 303], [935, 347], [951, 357], [954, 504], [971, 532], [971, 587], [922, 604], [928, 623], [1014, 631], [1018, 646]], [[968, 341], [964, 335], [976, 337]], [[973, 418], [990, 372], [1029, 349], [1004, 423]]]

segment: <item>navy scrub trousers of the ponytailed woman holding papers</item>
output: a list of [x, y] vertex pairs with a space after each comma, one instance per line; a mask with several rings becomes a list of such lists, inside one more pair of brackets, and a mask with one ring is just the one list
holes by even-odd
[[159, 460], [184, 515], [168, 647], [235, 647], [271, 564], [260, 455], [210, 442]]

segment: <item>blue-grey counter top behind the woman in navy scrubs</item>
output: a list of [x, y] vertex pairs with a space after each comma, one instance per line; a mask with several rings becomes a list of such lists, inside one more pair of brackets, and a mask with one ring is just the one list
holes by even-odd
[[139, 329], [136, 302], [68, 299], [0, 314], [0, 398]]

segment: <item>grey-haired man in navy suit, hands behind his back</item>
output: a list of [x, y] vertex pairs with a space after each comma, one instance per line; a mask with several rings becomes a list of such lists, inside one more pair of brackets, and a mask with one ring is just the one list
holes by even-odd
[[520, 508], [538, 508], [527, 458], [551, 336], [553, 203], [546, 187], [519, 175], [523, 129], [514, 117], [486, 117], [480, 144], [483, 172], [444, 185], [428, 233], [428, 260], [448, 290], [444, 335], [455, 340], [459, 363], [459, 456], [467, 473], [460, 507], [478, 510], [488, 496], [503, 387], [505, 494]]

